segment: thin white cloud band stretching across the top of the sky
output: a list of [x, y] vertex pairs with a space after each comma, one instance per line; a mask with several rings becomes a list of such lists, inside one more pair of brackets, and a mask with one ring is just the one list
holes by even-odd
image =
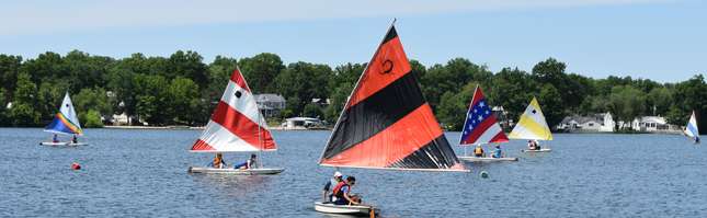
[[96, 27], [170, 26], [448, 12], [632, 4], [662, 0], [27, 0], [3, 3], [0, 35]]

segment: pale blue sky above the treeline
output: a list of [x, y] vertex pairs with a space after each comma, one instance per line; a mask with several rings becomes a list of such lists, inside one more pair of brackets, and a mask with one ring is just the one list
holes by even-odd
[[370, 59], [391, 21], [408, 58], [497, 72], [549, 57], [567, 72], [677, 82], [707, 73], [704, 0], [26, 0], [0, 7], [0, 54], [274, 53], [286, 64]]

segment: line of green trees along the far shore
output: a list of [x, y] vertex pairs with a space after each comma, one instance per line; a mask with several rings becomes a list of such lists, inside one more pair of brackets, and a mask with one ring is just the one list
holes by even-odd
[[[285, 97], [286, 107], [267, 117], [271, 128], [280, 128], [272, 124], [293, 116], [319, 117], [334, 124], [366, 66], [285, 64], [270, 53], [240, 59], [217, 56], [209, 64], [191, 50], [178, 50], [169, 57], [136, 53], [123, 58], [80, 50], [66, 55], [47, 51], [28, 59], [0, 54], [0, 126], [45, 126], [66, 92], [71, 94], [83, 127], [112, 125], [109, 121], [114, 114], [139, 121], [134, 124], [149, 124], [119, 128], [204, 126], [237, 64], [256, 94]], [[537, 62], [531, 71], [506, 67], [492, 72], [460, 57], [432, 66], [417, 60], [410, 64], [446, 130], [460, 129], [477, 84], [491, 105], [503, 107], [501, 121], [516, 119], [531, 97], [537, 96], [551, 127], [568, 115], [606, 112], [616, 121], [660, 115], [669, 124], [683, 126], [694, 110], [698, 123], [707, 122], [707, 116], [700, 116], [707, 112], [704, 72], [681, 82], [662, 83], [566, 72], [567, 64], [554, 58]], [[616, 130], [626, 133], [626, 127]]]

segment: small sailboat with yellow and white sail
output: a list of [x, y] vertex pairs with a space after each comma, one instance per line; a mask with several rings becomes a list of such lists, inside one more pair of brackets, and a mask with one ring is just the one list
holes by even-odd
[[[531, 100], [531, 104], [525, 108], [525, 112], [521, 115], [521, 119], [513, 127], [511, 134], [509, 134], [511, 139], [528, 139], [528, 140], [552, 140], [552, 134], [550, 128], [547, 126], [543, 111], [540, 111], [540, 104], [537, 103], [535, 96]], [[549, 152], [551, 149], [544, 146], [539, 150], [522, 150], [523, 152]]]

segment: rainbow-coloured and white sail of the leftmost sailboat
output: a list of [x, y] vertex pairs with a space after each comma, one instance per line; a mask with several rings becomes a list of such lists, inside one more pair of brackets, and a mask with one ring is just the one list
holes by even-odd
[[73, 111], [73, 104], [68, 92], [64, 96], [59, 113], [54, 116], [54, 121], [44, 130], [55, 134], [83, 135], [79, 117], [76, 115], [76, 111]]

